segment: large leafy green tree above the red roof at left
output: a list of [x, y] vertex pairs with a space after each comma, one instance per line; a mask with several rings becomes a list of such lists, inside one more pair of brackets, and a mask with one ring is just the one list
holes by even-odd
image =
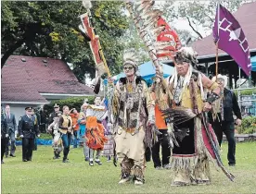
[[[62, 59], [73, 65], [81, 81], [85, 72], [93, 75], [95, 63], [89, 44], [78, 30], [81, 2], [2, 2], [2, 65], [9, 55], [32, 55]], [[127, 29], [122, 2], [93, 2], [96, 34], [112, 71], [120, 66], [123, 45], [117, 38]]]

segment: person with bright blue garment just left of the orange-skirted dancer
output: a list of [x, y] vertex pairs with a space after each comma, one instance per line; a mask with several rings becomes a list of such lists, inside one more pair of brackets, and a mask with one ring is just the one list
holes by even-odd
[[78, 124], [79, 124], [79, 133], [81, 137], [81, 142], [83, 143], [83, 154], [84, 154], [84, 160], [89, 161], [89, 147], [86, 144], [86, 138], [85, 138], [85, 133], [86, 133], [86, 110], [87, 110], [88, 103], [83, 103], [81, 106], [81, 112], [79, 115], [78, 119]]

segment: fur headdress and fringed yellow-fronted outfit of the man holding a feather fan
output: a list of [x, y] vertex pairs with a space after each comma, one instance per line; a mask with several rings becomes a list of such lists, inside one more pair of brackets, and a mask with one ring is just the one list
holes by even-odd
[[[211, 145], [200, 117], [204, 106], [203, 75], [193, 69], [192, 64], [196, 64], [196, 56], [190, 54], [186, 49], [181, 49], [174, 57], [178, 64], [183, 62], [190, 64], [186, 76], [179, 76], [176, 67], [174, 67], [173, 76], [167, 80], [173, 94], [173, 107], [181, 106], [192, 110], [196, 116], [178, 125], [175, 121], [173, 122], [173, 134], [179, 145], [174, 144], [170, 162], [175, 171], [173, 186], [209, 184], [211, 178], [209, 161], [215, 163]], [[208, 90], [213, 91], [217, 87], [219, 87], [218, 84], [212, 82]], [[211, 103], [217, 98], [218, 95], [212, 92]], [[206, 99], [206, 101], [208, 100]], [[210, 131], [216, 141], [211, 128]]]

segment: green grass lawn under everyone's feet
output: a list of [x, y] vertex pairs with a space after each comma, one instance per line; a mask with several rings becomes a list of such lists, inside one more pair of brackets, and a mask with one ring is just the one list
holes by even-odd
[[[227, 144], [222, 152], [227, 166]], [[171, 187], [172, 170], [155, 170], [147, 163], [146, 184], [118, 185], [120, 167], [107, 163], [89, 166], [83, 160], [83, 149], [70, 149], [70, 163], [53, 160], [50, 146], [38, 146], [32, 162], [21, 162], [21, 147], [16, 158], [4, 158], [2, 164], [2, 193], [255, 193], [256, 142], [237, 143], [237, 166], [227, 167], [236, 176], [231, 182], [211, 165], [210, 186]]]

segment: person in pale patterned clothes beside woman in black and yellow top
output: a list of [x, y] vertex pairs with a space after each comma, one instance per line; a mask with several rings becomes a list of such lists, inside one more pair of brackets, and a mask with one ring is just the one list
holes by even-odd
[[60, 138], [60, 132], [58, 130], [58, 121], [60, 116], [61, 112], [58, 112], [58, 116], [54, 117], [54, 122], [48, 127], [48, 131], [53, 136], [54, 160], [60, 158], [60, 152], [62, 151], [62, 140]]

